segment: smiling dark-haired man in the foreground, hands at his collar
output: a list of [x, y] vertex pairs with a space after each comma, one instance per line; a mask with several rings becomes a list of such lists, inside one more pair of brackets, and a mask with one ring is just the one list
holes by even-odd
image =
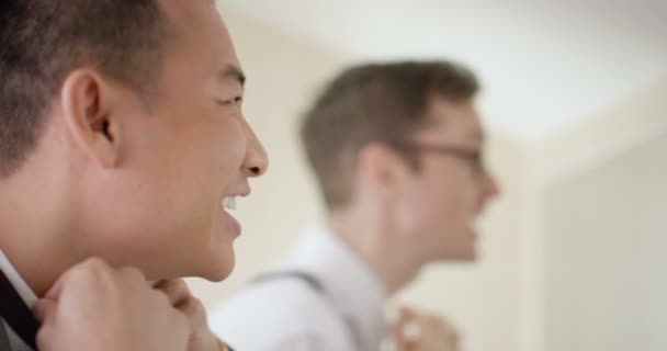
[[229, 274], [267, 157], [214, 3], [0, 16], [0, 350], [226, 349], [180, 278]]

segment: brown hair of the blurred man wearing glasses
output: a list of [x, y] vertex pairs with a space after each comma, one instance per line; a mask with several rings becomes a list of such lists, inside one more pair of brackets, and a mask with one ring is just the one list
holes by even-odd
[[[370, 143], [392, 146], [427, 121], [433, 95], [470, 100], [478, 90], [472, 71], [450, 61], [361, 65], [344, 70], [306, 112], [301, 137], [326, 205], [348, 204], [359, 151]], [[414, 155], [398, 151], [416, 166]]]

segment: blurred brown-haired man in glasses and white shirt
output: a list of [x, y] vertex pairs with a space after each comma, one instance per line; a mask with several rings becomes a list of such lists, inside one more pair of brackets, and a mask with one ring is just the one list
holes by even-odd
[[[392, 295], [428, 263], [475, 260], [475, 222], [498, 194], [477, 90], [448, 61], [362, 65], [334, 79], [301, 131], [328, 224], [212, 328], [247, 350], [378, 350]], [[417, 338], [404, 336], [408, 324]], [[399, 350], [457, 348], [441, 319], [409, 309], [394, 339]]]

